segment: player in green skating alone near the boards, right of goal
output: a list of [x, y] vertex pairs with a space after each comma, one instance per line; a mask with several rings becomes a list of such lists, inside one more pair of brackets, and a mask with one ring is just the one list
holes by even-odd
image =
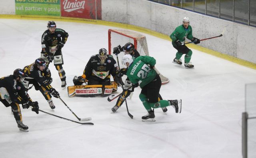
[[184, 43], [185, 38], [188, 38], [191, 40], [194, 44], [200, 43], [200, 40], [198, 38], [193, 37], [192, 35], [192, 27], [189, 25], [190, 20], [188, 17], [183, 18], [183, 24], [178, 26], [174, 32], [170, 35], [170, 38], [172, 39], [172, 46], [178, 50], [176, 53], [176, 57], [173, 60], [173, 63], [175, 64], [182, 64], [181, 57], [183, 54], [185, 55], [185, 63], [184, 66], [186, 68], [194, 68], [194, 65], [190, 62], [191, 56], [192, 56], [192, 50], [190, 50]]

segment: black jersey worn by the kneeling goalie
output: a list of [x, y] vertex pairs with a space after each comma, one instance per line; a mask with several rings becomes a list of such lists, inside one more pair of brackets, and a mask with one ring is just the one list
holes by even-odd
[[110, 77], [110, 74], [114, 77], [117, 71], [116, 60], [111, 55], [107, 55], [104, 64], [100, 64], [100, 58], [98, 54], [91, 56], [90, 60], [84, 68], [84, 74], [86, 79], [90, 80], [90, 76], [97, 76], [104, 79]]

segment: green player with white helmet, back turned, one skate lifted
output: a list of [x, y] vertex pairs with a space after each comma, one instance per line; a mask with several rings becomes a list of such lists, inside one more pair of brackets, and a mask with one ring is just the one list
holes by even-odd
[[148, 114], [142, 116], [142, 121], [155, 121], [154, 109], [166, 106], [172, 106], [176, 113], [181, 112], [181, 100], [160, 100], [158, 101], [161, 88], [161, 78], [154, 70], [156, 60], [150, 56], [139, 56], [133, 59], [130, 54], [124, 55], [122, 64], [127, 66], [126, 75], [135, 87], [142, 88], [140, 100], [148, 111]]

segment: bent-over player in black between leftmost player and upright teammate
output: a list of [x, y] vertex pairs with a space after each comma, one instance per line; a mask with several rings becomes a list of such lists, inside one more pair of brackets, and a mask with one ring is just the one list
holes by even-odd
[[46, 66], [44, 59], [36, 59], [34, 63], [25, 66], [23, 71], [26, 74], [23, 81], [24, 86], [28, 88], [29, 84], [33, 84], [35, 89], [40, 90], [44, 98], [48, 101], [50, 108], [54, 109], [55, 106], [52, 102], [52, 96], [58, 98], [60, 94], [50, 85], [52, 83], [51, 72]]

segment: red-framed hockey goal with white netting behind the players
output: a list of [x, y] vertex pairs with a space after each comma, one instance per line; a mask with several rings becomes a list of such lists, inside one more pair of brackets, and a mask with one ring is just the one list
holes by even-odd
[[[108, 30], [108, 54], [111, 54], [116, 61], [117, 59], [116, 55], [113, 54], [113, 48], [117, 47], [118, 45], [124, 46], [128, 42], [134, 44], [134, 47], [140, 53], [140, 56], [149, 56], [146, 36], [129, 30]], [[121, 52], [118, 54], [118, 59], [122, 59], [123, 56], [124, 53]], [[121, 65], [120, 67], [122, 67]], [[168, 78], [164, 77], [156, 68], [155, 70], [158, 74], [160, 74], [159, 76], [162, 80], [162, 84], [169, 82]]]

